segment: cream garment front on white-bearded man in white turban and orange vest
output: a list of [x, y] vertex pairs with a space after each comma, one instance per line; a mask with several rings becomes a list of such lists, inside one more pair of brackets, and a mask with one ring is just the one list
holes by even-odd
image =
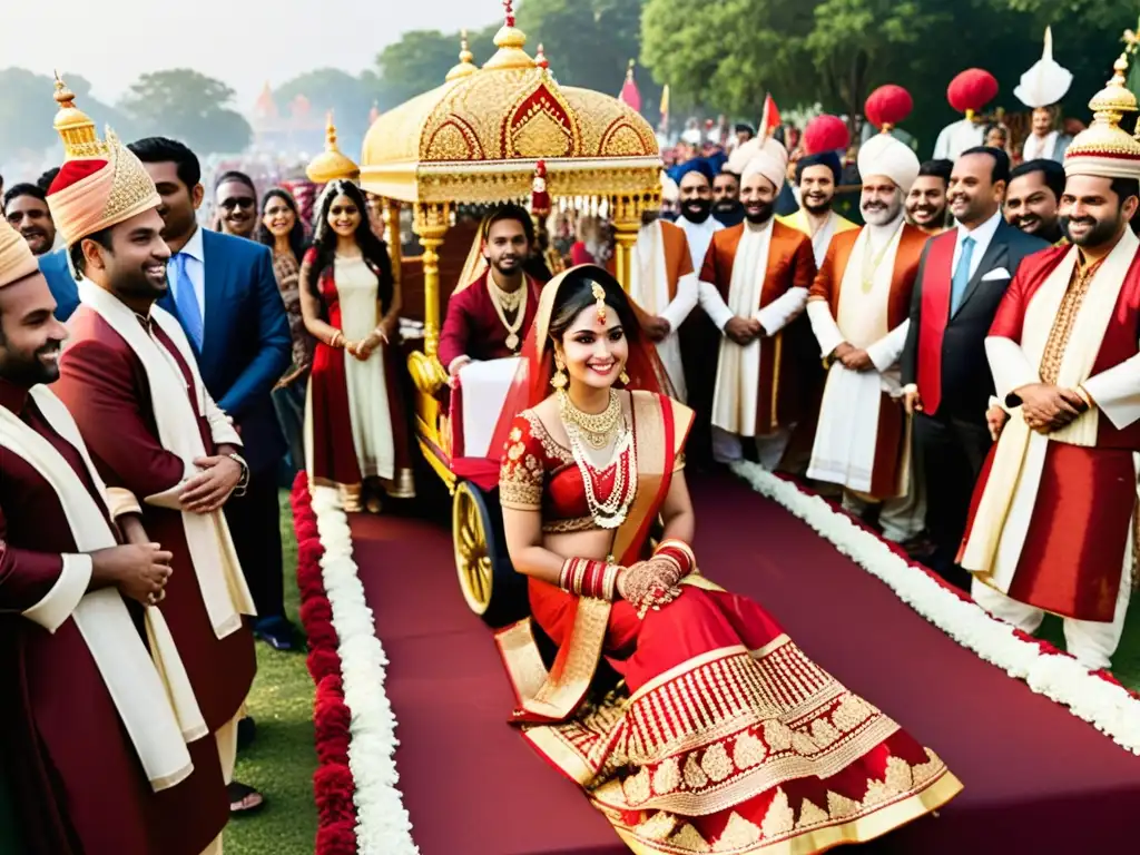
[[[894, 235], [889, 234], [890, 228], [894, 228]], [[887, 243], [876, 246], [871, 241], [872, 233], [878, 233]], [[887, 328], [887, 310], [902, 235], [899, 221], [894, 227], [868, 226], [855, 238], [839, 285], [836, 324], [844, 341], [856, 348], [870, 348], [891, 332]], [[878, 267], [869, 271], [871, 290], [864, 293], [864, 266], [880, 252]], [[897, 391], [896, 373], [880, 374], [874, 368], [853, 372], [838, 359], [832, 363], [823, 390], [808, 478], [844, 484], [862, 492], [871, 489], [881, 392]]]

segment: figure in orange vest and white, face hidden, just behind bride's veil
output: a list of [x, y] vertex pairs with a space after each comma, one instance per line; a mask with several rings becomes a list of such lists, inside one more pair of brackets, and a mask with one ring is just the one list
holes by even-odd
[[646, 337], [657, 344], [674, 397], [687, 400], [677, 331], [697, 306], [697, 274], [685, 231], [660, 218], [642, 227], [634, 246], [629, 296]]

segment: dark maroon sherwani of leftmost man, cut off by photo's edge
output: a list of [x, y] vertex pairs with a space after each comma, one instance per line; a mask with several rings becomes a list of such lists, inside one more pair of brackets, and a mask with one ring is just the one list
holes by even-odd
[[[0, 406], [46, 439], [106, 507], [79, 451], [24, 389], [0, 380]], [[62, 556], [76, 552], [55, 488], [0, 448], [0, 756], [25, 844], [51, 855], [197, 855], [229, 819], [215, 741], [193, 742], [194, 773], [154, 792], [75, 621], [51, 634], [22, 617], [56, 584]], [[128, 608], [141, 625], [141, 610]]]

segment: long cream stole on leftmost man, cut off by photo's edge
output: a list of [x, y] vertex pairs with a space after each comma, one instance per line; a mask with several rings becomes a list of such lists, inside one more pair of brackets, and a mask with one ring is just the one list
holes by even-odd
[[[32, 399], [48, 424], [82, 455], [96, 489], [105, 496], [103, 481], [67, 408], [44, 386], [34, 388]], [[24, 617], [52, 633], [68, 617], [75, 621], [150, 787], [156, 792], [174, 787], [194, 771], [186, 743], [205, 735], [206, 726], [162, 612], [146, 609], [147, 635], [155, 657], [152, 662], [119, 591], [85, 593], [91, 579], [91, 557], [87, 553], [117, 545], [104, 516], [105, 507], [95, 503], [50, 442], [3, 407], [0, 447], [24, 459], [55, 490], [80, 553], [63, 556], [59, 580]]]

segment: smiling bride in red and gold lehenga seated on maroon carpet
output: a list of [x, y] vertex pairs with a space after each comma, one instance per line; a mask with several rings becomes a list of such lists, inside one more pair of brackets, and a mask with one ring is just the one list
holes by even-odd
[[514, 723], [640, 854], [820, 852], [935, 811], [961, 790], [945, 764], [701, 576], [693, 414], [638, 329], [609, 274], [568, 270], [507, 399], [499, 492], [532, 613], [496, 637]]

